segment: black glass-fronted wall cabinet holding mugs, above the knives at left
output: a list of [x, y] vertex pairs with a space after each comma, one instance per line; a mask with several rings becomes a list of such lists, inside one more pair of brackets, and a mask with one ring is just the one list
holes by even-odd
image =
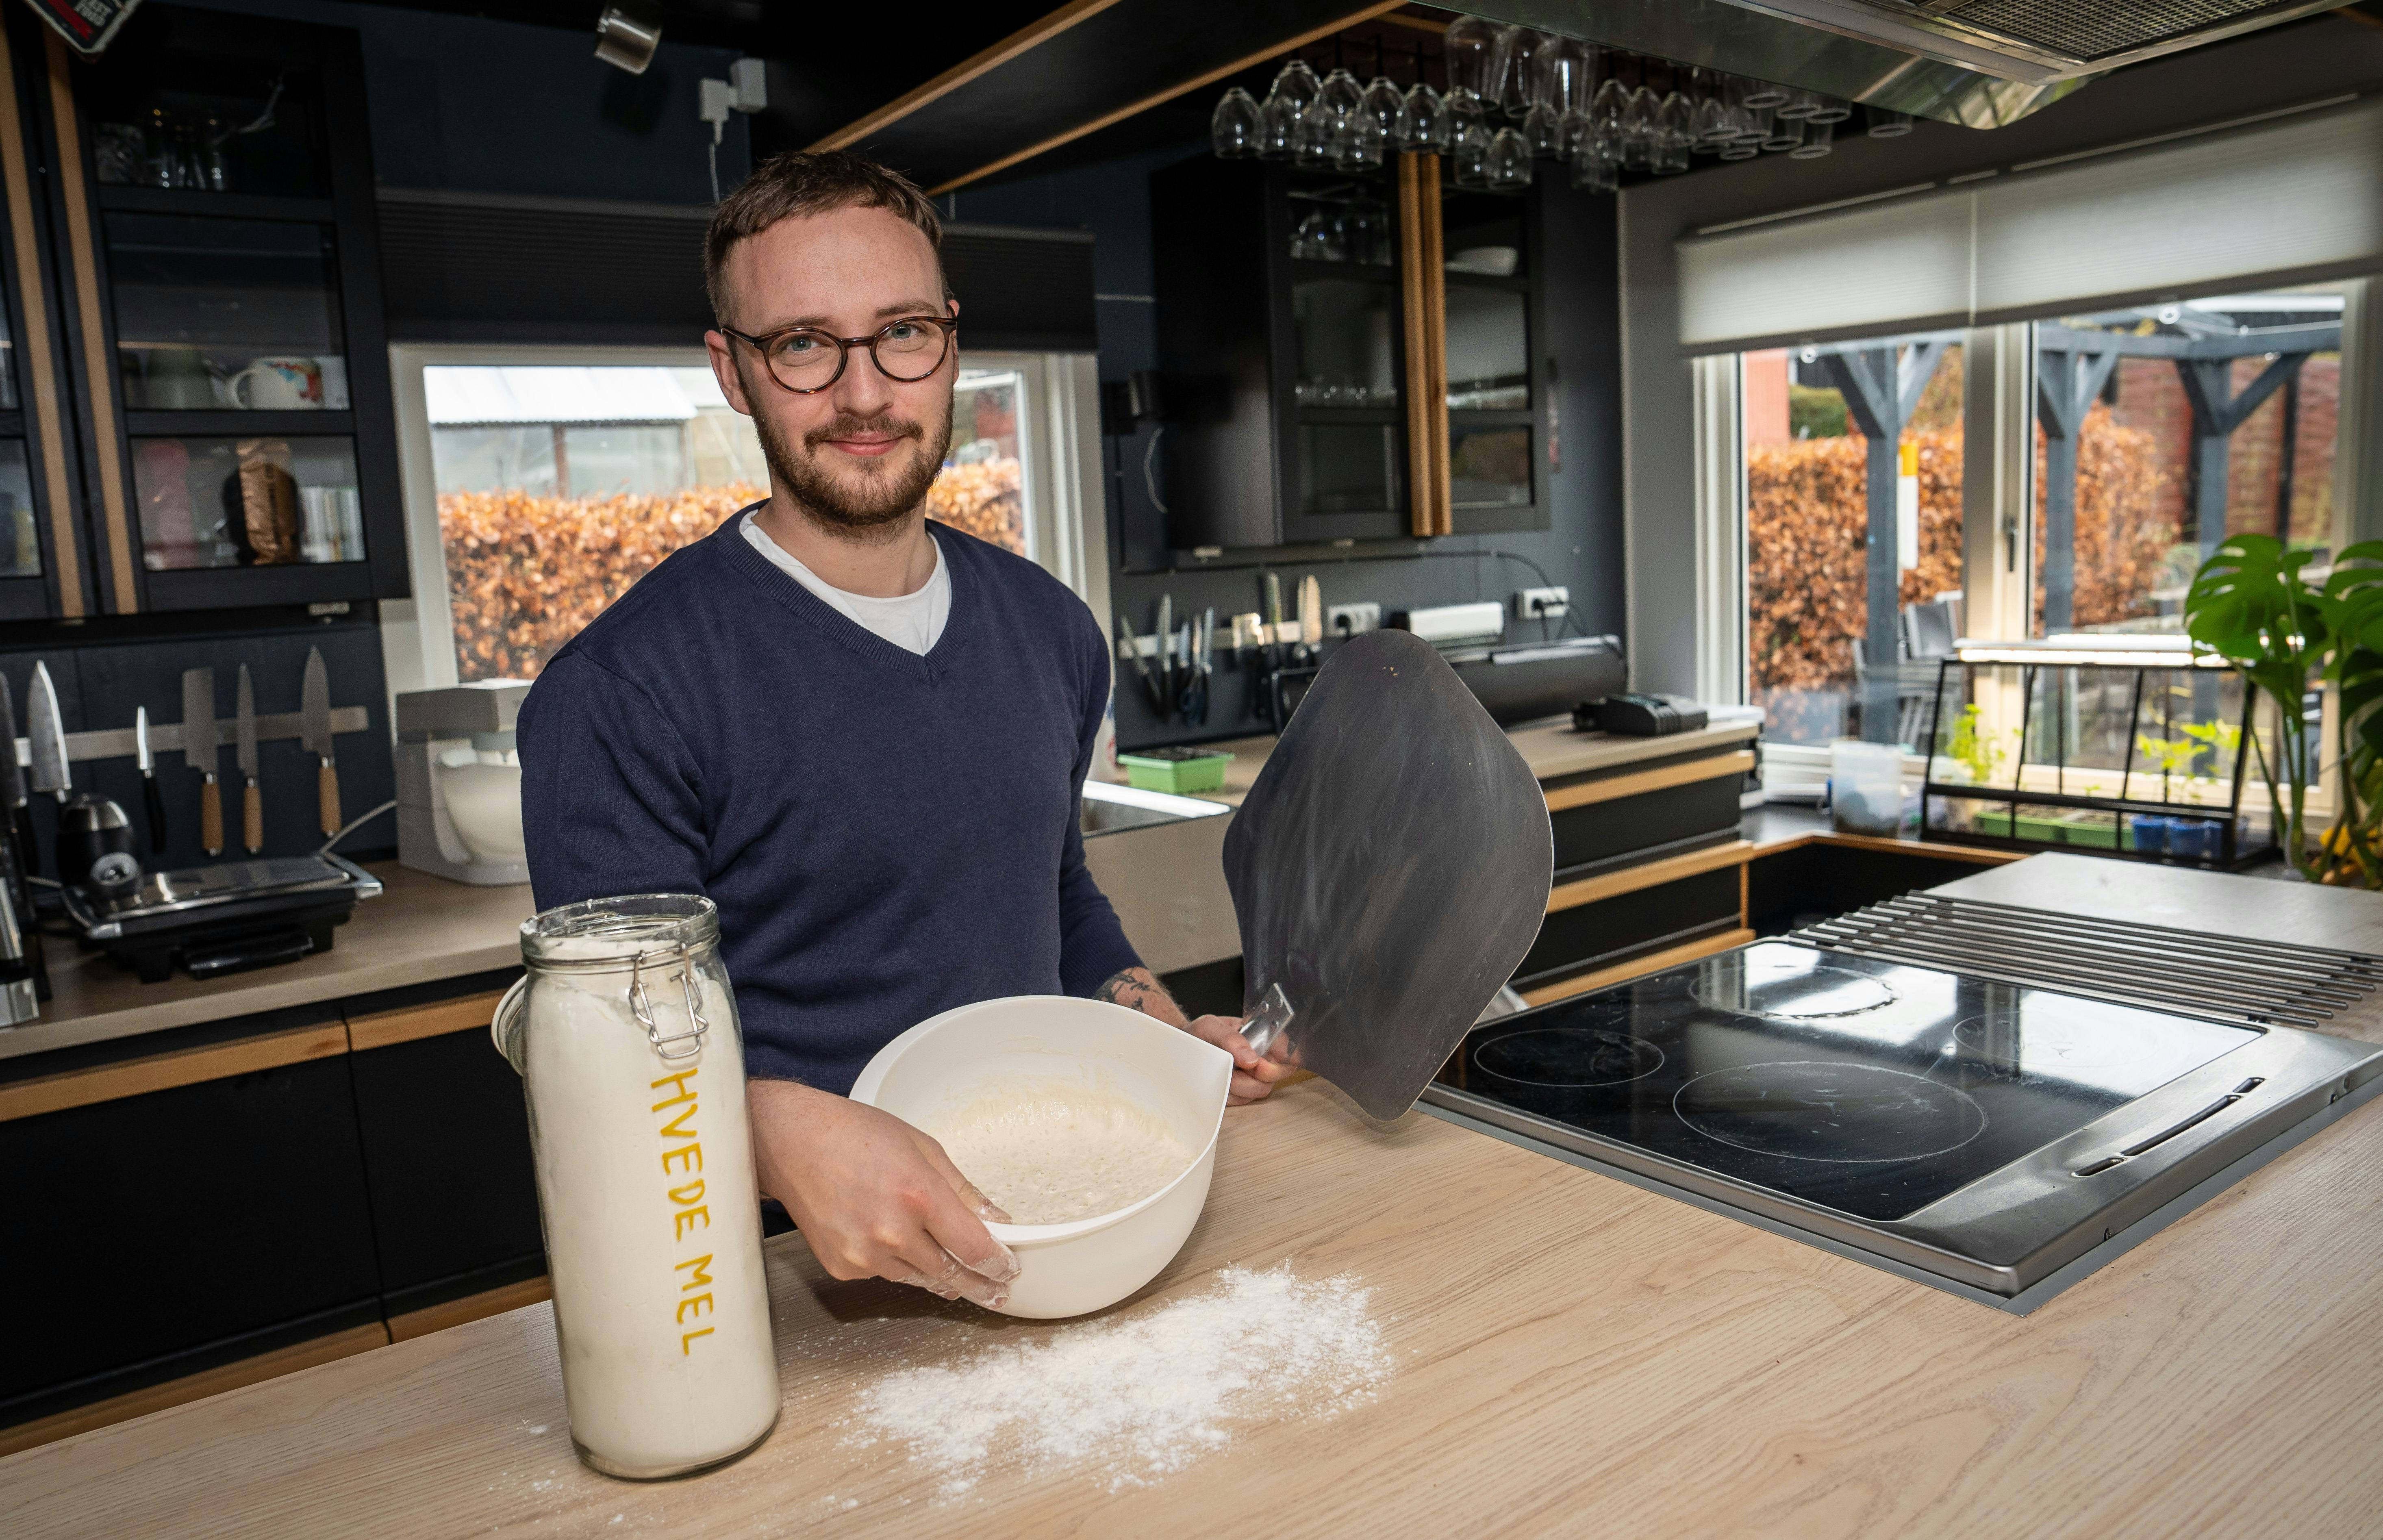
[[55, 317], [48, 372], [17, 362], [60, 403], [29, 441], [71, 462], [36, 498], [71, 560], [26, 613], [403, 596], [355, 33], [153, 5], [98, 62], [19, 17], [7, 45], [10, 246], [43, 279], [10, 298]]

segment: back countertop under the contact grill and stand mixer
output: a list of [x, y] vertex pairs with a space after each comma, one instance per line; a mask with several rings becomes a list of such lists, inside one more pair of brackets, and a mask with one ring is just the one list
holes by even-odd
[[98, 951], [45, 937], [55, 999], [41, 1020], [0, 1027], [0, 1058], [519, 965], [527, 882], [469, 887], [396, 861], [367, 870], [386, 892], [355, 906], [331, 951], [279, 968], [143, 985]]

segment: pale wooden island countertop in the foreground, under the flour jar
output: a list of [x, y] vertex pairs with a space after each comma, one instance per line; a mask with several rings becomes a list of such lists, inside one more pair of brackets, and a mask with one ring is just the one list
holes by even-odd
[[[2145, 868], [2040, 856], [1956, 889], [2130, 906], [2078, 889], [2104, 870]], [[2157, 877], [2169, 923], [2383, 944], [2376, 894], [2271, 920], [2276, 884]], [[1306, 1082], [1227, 1113], [1192, 1242], [1120, 1309], [1275, 1261], [1373, 1287], [1396, 1373], [1149, 1488], [996, 1468], [941, 1499], [903, 1447], [855, 1445], [886, 1366], [1065, 1328], [829, 1283], [782, 1237], [786, 1409], [710, 1476], [581, 1468], [529, 1306], [29, 1449], [0, 1492], [24, 1535], [2347, 1535], [2383, 1511], [2383, 1106], [2006, 1316]]]

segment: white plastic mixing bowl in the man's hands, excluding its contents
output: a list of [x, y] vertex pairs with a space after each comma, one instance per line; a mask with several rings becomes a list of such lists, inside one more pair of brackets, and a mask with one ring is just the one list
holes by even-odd
[[1018, 994], [917, 1023], [870, 1058], [853, 1101], [934, 1128], [996, 1085], [1110, 1092], [1199, 1151], [1180, 1178], [1115, 1213], [1065, 1225], [987, 1225], [1020, 1263], [1001, 1314], [1082, 1316], [1156, 1278], [1208, 1201], [1232, 1054], [1125, 1006]]

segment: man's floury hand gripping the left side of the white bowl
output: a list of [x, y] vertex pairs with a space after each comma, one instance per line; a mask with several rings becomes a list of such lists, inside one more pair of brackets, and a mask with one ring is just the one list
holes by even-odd
[[753, 1080], [760, 1190], [786, 1204], [829, 1278], [889, 1278], [998, 1306], [1018, 1278], [984, 1221], [1006, 1223], [944, 1147], [875, 1106], [791, 1080]]

